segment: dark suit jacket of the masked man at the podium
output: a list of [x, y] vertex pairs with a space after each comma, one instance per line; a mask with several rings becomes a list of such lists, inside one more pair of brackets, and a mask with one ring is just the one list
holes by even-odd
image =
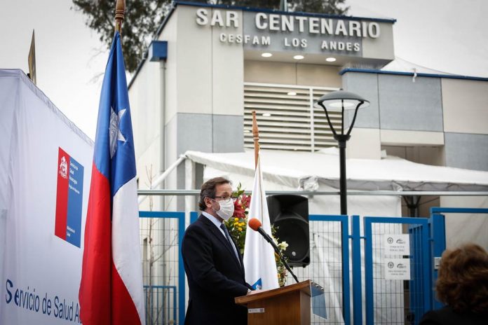
[[190, 291], [185, 325], [248, 324], [248, 310], [234, 303], [235, 297], [245, 296], [250, 289], [238, 255], [240, 263], [229, 241], [207, 217], [201, 215], [187, 228], [182, 242]]

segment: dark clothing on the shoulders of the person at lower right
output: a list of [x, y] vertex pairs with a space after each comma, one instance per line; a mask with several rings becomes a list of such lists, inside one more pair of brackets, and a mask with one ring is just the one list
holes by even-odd
[[423, 315], [420, 325], [486, 325], [488, 312], [475, 314], [474, 312], [454, 312], [446, 306], [440, 310], [431, 310]]

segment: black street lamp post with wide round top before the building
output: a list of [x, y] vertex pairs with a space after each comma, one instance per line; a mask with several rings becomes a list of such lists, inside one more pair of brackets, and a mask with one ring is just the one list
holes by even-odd
[[[366, 99], [354, 94], [353, 92], [346, 92], [344, 90], [338, 90], [334, 92], [329, 92], [328, 94], [320, 97], [316, 106], [321, 106], [325, 111], [325, 116], [327, 117], [327, 123], [329, 123], [330, 130], [334, 134], [334, 139], [339, 144], [339, 191], [341, 196], [341, 214], [347, 214], [347, 184], [346, 184], [346, 141], [351, 138], [351, 130], [353, 130], [355, 118], [358, 115], [358, 109], [370, 106], [370, 102]], [[341, 133], [337, 133], [334, 129], [334, 125], [330, 122], [329, 111], [340, 111], [341, 112]], [[344, 111], [352, 110], [354, 111], [354, 117], [351, 122], [351, 126], [344, 133]]]

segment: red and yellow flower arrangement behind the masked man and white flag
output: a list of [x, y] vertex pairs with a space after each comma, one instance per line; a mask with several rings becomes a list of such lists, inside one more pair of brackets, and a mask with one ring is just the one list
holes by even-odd
[[[232, 197], [236, 198], [234, 201], [234, 213], [229, 221], [225, 222], [229, 234], [236, 240], [240, 254], [244, 254], [245, 232], [248, 226], [248, 210], [251, 203], [251, 195], [246, 195], [244, 192], [245, 190], [243, 190], [241, 184], [239, 184], [237, 190], [232, 193]], [[279, 242], [278, 237], [276, 237], [276, 228], [274, 226], [271, 226], [271, 237], [276, 246], [278, 246], [278, 249], [280, 249], [280, 253], [283, 255], [288, 244], [286, 242]], [[287, 270], [276, 253], [275, 260], [276, 270], [278, 271], [278, 283], [280, 286], [284, 286], [286, 284]]]

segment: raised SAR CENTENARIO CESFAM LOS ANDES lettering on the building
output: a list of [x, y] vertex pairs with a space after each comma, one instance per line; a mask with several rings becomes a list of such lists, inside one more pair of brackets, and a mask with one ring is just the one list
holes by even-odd
[[199, 27], [215, 28], [221, 43], [249, 50], [362, 57], [365, 43], [384, 43], [384, 50], [393, 53], [394, 20], [388, 19], [198, 8], [195, 21]]

